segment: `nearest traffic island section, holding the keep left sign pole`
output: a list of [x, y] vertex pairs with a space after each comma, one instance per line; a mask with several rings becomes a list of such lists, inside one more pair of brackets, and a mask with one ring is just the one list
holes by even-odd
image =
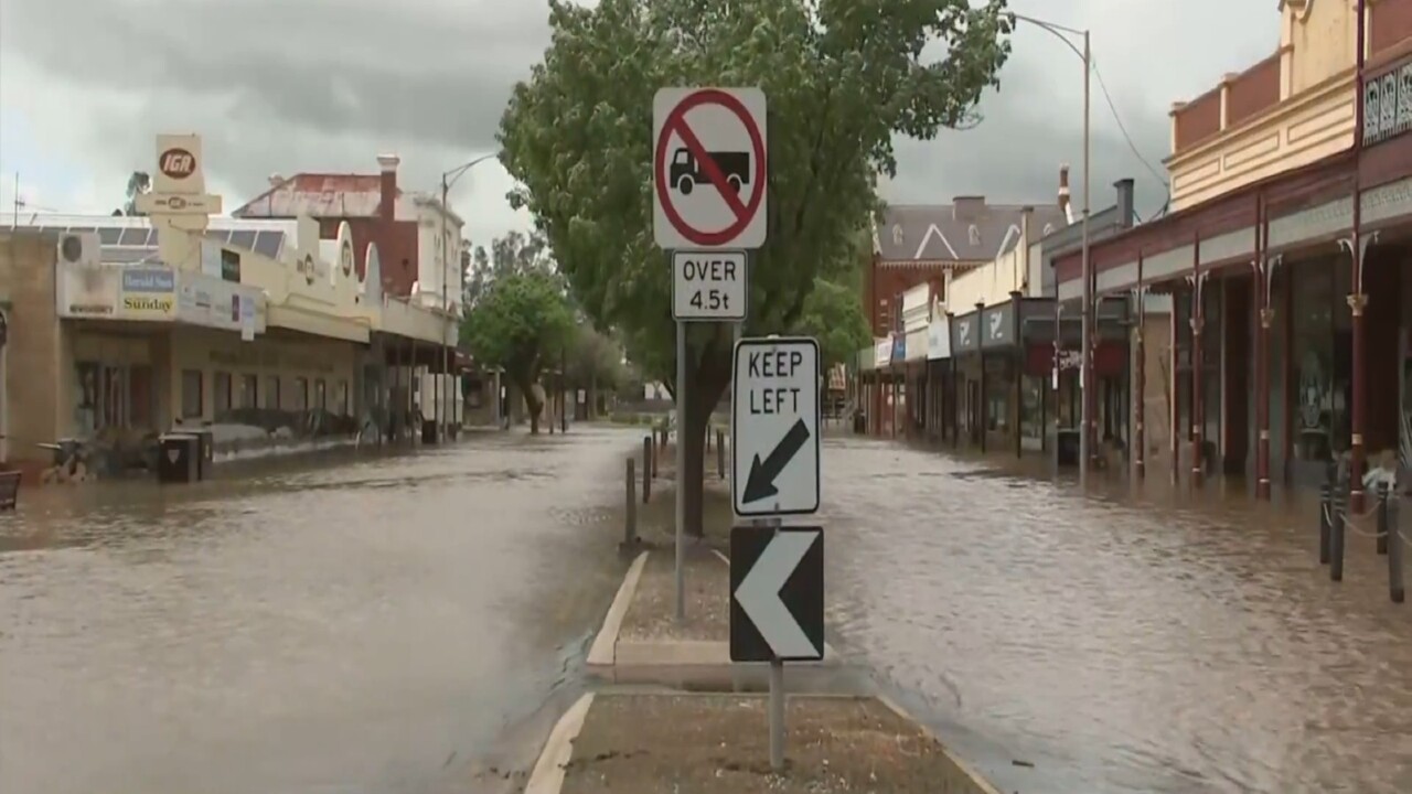
[[998, 794], [880, 698], [789, 697], [782, 773], [764, 697], [599, 692], [566, 721], [527, 794]]

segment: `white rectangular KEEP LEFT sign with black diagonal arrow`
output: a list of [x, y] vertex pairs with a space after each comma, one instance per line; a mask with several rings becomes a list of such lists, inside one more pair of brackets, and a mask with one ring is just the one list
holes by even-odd
[[730, 494], [738, 516], [819, 510], [819, 343], [736, 343]]

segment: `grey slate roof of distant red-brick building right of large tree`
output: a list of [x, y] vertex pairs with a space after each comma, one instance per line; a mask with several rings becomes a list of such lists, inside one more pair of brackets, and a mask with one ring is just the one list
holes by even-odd
[[[877, 227], [878, 256], [884, 261], [991, 261], [1019, 242], [1019, 223], [1027, 205], [964, 203], [890, 205]], [[1058, 205], [1035, 206], [1029, 219], [1045, 226], [1065, 226]], [[1011, 229], [1014, 227], [1014, 229]]]

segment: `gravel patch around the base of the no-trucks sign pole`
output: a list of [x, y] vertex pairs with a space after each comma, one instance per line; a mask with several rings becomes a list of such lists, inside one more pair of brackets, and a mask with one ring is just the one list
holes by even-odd
[[686, 622], [676, 622], [675, 550], [652, 551], [642, 567], [618, 640], [730, 640], [730, 568], [707, 548], [686, 555]]

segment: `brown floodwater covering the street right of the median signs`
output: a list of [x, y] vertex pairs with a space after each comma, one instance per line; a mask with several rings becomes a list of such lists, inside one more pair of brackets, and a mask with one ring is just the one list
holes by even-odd
[[823, 487], [840, 651], [1005, 793], [1412, 791], [1412, 603], [1371, 538], [1330, 582], [1313, 504], [861, 439]]

